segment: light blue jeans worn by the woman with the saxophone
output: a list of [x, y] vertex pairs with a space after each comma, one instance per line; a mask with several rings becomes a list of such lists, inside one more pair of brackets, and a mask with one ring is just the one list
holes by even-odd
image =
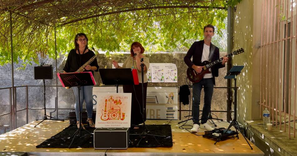
[[[76, 120], [79, 121], [78, 115], [78, 87], [72, 87], [72, 90], [74, 92], [76, 102], [75, 102], [75, 114], [76, 114]], [[83, 110], [83, 100], [86, 102], [86, 109], [87, 109], [87, 114], [88, 118], [92, 118], [93, 114], [93, 86], [88, 85], [88, 86], [81, 86], [80, 87], [80, 110]]]

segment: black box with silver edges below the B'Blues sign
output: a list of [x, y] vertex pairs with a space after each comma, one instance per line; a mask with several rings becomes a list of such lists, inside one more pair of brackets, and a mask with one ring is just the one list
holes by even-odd
[[129, 128], [96, 128], [94, 149], [127, 149]]

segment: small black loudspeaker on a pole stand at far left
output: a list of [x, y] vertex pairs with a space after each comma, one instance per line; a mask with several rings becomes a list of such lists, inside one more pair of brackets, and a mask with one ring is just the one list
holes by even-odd
[[34, 79], [53, 79], [52, 65], [35, 66]]

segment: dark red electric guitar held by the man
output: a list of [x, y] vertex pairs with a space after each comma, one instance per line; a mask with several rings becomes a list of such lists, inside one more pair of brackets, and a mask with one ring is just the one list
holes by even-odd
[[[232, 53], [226, 55], [226, 57], [230, 57], [232, 55], [237, 55], [237, 54], [240, 54], [243, 52], [244, 52], [244, 50], [242, 48], [240, 48], [240, 49], [233, 51]], [[193, 68], [188, 68], [187, 69], [188, 79], [194, 83], [199, 82], [200, 80], [203, 79], [203, 76], [205, 74], [210, 73], [210, 71], [209, 71], [210, 67], [214, 66], [215, 64], [217, 64], [221, 61], [223, 61], [223, 57], [216, 61], [213, 61], [213, 62], [203, 61], [202, 64], [198, 65], [198, 66], [203, 66], [202, 71], [200, 73], [197, 73]]]

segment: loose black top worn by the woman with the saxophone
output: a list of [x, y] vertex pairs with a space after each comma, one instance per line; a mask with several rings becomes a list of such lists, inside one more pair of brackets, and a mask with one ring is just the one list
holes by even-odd
[[[93, 51], [91, 51], [90, 49], [88, 52], [85, 52], [84, 54], [77, 54], [75, 49], [72, 49], [68, 54], [68, 57], [67, 57], [67, 60], [66, 60], [63, 70], [68, 73], [75, 72], [78, 70], [78, 68], [83, 66], [83, 64], [88, 62], [93, 56], [95, 56], [95, 53]], [[96, 66], [97, 67], [96, 71], [98, 71], [99, 66], [98, 66], [97, 59], [95, 59], [90, 64], [90, 66]], [[85, 70], [85, 71], [91, 71], [92, 74], [94, 75], [94, 71], [92, 71], [92, 70]]]

